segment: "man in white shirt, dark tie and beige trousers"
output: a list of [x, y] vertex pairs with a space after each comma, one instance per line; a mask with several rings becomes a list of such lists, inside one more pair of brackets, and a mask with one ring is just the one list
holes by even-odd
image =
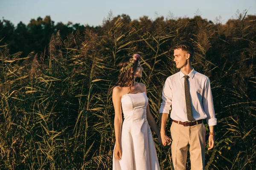
[[[191, 169], [204, 170], [205, 126], [209, 125], [209, 148], [214, 146], [214, 126], [217, 124], [212, 101], [210, 80], [192, 68], [194, 48], [188, 42], [174, 47], [174, 61], [180, 72], [168, 77], [163, 86], [160, 113], [160, 136], [163, 145], [169, 111], [172, 119], [172, 162], [175, 170], [186, 169], [189, 147]], [[172, 106], [172, 107], [171, 107]]]

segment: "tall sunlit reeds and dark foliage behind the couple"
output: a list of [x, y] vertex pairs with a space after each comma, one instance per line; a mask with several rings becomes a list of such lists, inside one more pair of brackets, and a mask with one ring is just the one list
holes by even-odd
[[[138, 81], [147, 87], [158, 122], [163, 83], [179, 71], [172, 47], [180, 40], [192, 42], [193, 67], [211, 80], [218, 134], [214, 150], [206, 151], [206, 169], [255, 168], [255, 15], [224, 25], [200, 16], [131, 20], [127, 15], [110, 16], [97, 28], [67, 31], [53, 25], [41, 22], [28, 30], [19, 24], [3, 34], [7, 27], [0, 22], [5, 37], [0, 42], [0, 169], [111, 170], [115, 138], [109, 89], [119, 74], [116, 65], [126, 55], [141, 55], [144, 71]], [[14, 33], [20, 36], [12, 39]], [[35, 52], [21, 56], [19, 49]], [[160, 167], [171, 169], [171, 149], [156, 137]]]

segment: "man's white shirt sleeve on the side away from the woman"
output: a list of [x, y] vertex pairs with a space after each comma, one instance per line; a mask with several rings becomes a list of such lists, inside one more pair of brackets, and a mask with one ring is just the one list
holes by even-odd
[[210, 80], [208, 77], [205, 81], [203, 106], [204, 106], [204, 112], [207, 115], [207, 119], [206, 119], [207, 124], [209, 126], [217, 125], [217, 119], [215, 117], [215, 111], [214, 111], [213, 100], [212, 100], [212, 90], [211, 90]]

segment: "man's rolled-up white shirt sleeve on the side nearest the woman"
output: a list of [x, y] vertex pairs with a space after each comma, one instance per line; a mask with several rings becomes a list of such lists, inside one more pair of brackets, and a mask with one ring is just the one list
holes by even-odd
[[163, 85], [163, 91], [162, 91], [162, 102], [159, 109], [159, 113], [168, 113], [172, 105], [172, 89], [170, 87], [170, 79], [166, 79], [166, 82]]

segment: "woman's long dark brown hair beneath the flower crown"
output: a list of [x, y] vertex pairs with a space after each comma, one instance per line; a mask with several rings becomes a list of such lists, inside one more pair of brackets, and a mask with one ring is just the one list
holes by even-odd
[[[133, 57], [127, 56], [124, 59], [122, 59], [122, 61], [118, 65], [119, 69], [121, 69], [122, 67], [126, 67], [130, 63], [130, 58], [133, 58]], [[128, 68], [125, 72], [119, 74], [118, 80], [115, 86], [130, 87], [131, 89], [131, 86], [133, 86], [135, 83], [133, 73], [137, 70], [138, 62], [139, 60], [137, 59], [130, 68]]]

